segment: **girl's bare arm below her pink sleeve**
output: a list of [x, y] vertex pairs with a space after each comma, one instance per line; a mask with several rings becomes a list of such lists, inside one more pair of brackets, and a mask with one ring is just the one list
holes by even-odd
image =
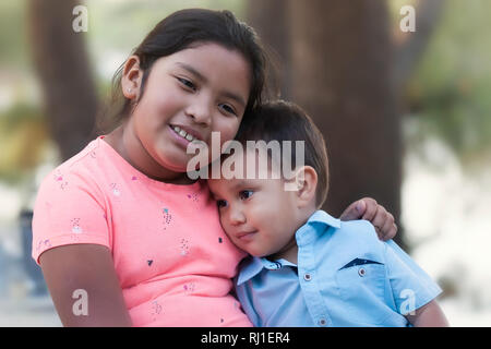
[[112, 256], [106, 246], [53, 248], [40, 255], [39, 264], [63, 326], [131, 326]]

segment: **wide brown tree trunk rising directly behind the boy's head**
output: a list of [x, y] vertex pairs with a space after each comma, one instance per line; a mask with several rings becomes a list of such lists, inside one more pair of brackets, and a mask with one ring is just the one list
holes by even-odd
[[[338, 216], [352, 201], [372, 196], [399, 222], [400, 117], [386, 3], [294, 0], [284, 4], [291, 99], [312, 116], [327, 144], [330, 193], [323, 208]], [[270, 19], [267, 25], [282, 25], [272, 20], [277, 10], [270, 14], [266, 10], [255, 9]], [[275, 44], [267, 36], [263, 39]], [[402, 238], [399, 231], [396, 240], [402, 243]]]

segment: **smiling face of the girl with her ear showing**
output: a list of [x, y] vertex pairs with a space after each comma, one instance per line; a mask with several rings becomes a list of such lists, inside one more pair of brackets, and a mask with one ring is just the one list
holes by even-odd
[[[123, 76], [127, 97], [141, 86], [142, 71], [131, 71]], [[235, 137], [250, 76], [244, 57], [218, 44], [204, 43], [156, 60], [125, 125], [131, 160], [156, 178], [183, 176], [194, 156], [185, 152], [190, 142], [201, 140], [211, 148], [212, 132], [220, 132], [221, 144]]]

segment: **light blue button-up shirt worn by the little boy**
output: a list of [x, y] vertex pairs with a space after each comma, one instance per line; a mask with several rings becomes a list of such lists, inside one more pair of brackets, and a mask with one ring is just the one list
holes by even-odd
[[298, 265], [249, 257], [237, 296], [254, 326], [408, 326], [442, 290], [367, 220], [315, 212], [296, 232]]

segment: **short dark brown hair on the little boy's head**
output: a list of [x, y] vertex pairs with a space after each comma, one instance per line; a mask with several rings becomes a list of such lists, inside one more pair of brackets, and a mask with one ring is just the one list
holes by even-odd
[[[294, 103], [265, 101], [244, 117], [236, 136], [247, 141], [304, 141], [304, 165], [318, 173], [315, 206], [324, 203], [328, 190], [328, 159], [324, 137], [307, 112]], [[296, 147], [291, 147], [291, 164], [296, 166]]]

